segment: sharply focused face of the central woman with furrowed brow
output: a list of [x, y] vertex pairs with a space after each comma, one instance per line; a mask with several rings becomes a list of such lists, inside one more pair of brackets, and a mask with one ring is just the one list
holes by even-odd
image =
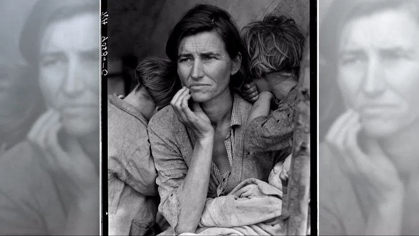
[[241, 58], [230, 59], [223, 40], [214, 31], [184, 37], [178, 48], [177, 73], [196, 102], [207, 102], [228, 88], [230, 75], [240, 68]]

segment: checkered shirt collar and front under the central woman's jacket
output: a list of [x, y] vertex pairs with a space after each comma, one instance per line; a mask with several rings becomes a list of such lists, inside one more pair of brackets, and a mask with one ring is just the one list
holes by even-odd
[[230, 170], [221, 175], [220, 170], [218, 169], [217, 165], [213, 162], [211, 163], [211, 173], [213, 174], [215, 182], [218, 184], [217, 187], [217, 196], [223, 194], [225, 187], [228, 184], [228, 180], [231, 174], [231, 166], [233, 165], [233, 150], [234, 150], [234, 129], [235, 125], [241, 125], [240, 122], [240, 111], [238, 110], [238, 102], [239, 99], [237, 98], [236, 93], [233, 96], [233, 110], [231, 112], [231, 120], [230, 120], [230, 131], [227, 134], [227, 137], [224, 139], [224, 145], [227, 149], [228, 155], [228, 162], [230, 163]]

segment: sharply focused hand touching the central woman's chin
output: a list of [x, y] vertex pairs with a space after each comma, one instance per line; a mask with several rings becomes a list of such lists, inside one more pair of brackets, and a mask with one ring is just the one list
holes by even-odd
[[173, 97], [170, 105], [173, 107], [177, 118], [185, 126], [190, 127], [198, 140], [214, 137], [214, 128], [208, 116], [202, 111], [199, 103], [193, 102], [192, 111], [189, 108], [189, 99], [191, 94], [188, 88], [183, 87]]

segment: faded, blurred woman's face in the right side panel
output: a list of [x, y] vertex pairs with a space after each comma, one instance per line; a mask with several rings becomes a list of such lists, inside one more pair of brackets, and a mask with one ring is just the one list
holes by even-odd
[[338, 85], [367, 133], [385, 137], [419, 121], [419, 25], [404, 10], [354, 18], [342, 28]]

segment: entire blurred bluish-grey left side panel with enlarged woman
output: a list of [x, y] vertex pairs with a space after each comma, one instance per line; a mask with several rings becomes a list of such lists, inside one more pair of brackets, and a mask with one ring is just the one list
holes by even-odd
[[0, 0], [0, 235], [99, 235], [100, 1]]

